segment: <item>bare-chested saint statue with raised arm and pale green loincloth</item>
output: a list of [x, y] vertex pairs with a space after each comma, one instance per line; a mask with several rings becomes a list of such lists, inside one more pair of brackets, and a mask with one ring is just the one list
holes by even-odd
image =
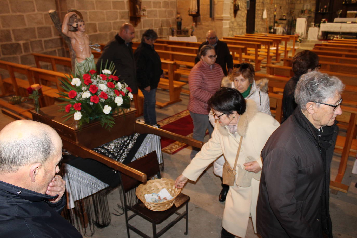
[[[75, 19], [73, 21], [73, 19]], [[72, 26], [74, 30], [70, 30]], [[62, 33], [71, 39], [71, 45], [76, 54], [75, 76], [83, 75], [89, 70], [96, 69], [94, 56], [89, 47], [89, 36], [85, 33], [84, 20], [77, 19], [75, 12], [68, 12], [62, 24]]]

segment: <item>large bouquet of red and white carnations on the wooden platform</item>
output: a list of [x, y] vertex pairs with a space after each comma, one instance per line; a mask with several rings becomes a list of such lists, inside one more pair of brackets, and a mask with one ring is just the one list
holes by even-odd
[[64, 121], [73, 116], [77, 121], [77, 126], [99, 118], [102, 127], [107, 130], [115, 124], [113, 115], [119, 112], [124, 113], [124, 108], [130, 108], [130, 100], [133, 95], [131, 88], [124, 82], [119, 82], [119, 78], [112, 75], [114, 69], [111, 63], [109, 69], [97, 74], [95, 70], [90, 70], [80, 78], [69, 78], [69, 82], [61, 80], [62, 88], [67, 93], [60, 92], [63, 97], [59, 99], [67, 101], [68, 104], [62, 111], [67, 112], [63, 117]]

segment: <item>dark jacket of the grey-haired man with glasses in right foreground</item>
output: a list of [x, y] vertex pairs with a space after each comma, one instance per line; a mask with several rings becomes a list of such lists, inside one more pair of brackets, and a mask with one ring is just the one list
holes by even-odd
[[297, 107], [266, 142], [257, 204], [263, 238], [320, 238], [322, 231], [332, 238], [328, 200], [336, 123], [320, 132]]

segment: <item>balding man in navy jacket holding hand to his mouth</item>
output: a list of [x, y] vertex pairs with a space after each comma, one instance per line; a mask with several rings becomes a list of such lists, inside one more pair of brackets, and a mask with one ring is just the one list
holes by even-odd
[[0, 131], [0, 237], [82, 237], [60, 212], [62, 141], [40, 122], [17, 120]]

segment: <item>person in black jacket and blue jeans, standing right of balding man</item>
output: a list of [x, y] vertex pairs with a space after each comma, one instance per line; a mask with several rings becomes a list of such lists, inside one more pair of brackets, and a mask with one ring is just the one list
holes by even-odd
[[156, 89], [160, 77], [164, 77], [159, 54], [154, 49], [157, 34], [149, 29], [142, 34], [141, 43], [134, 52], [136, 81], [144, 95], [144, 120], [146, 124], [159, 127], [156, 121]]

